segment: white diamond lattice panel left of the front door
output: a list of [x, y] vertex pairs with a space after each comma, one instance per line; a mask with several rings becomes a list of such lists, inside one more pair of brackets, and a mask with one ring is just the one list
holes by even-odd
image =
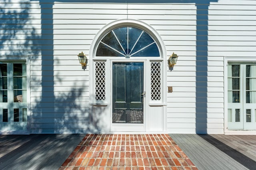
[[105, 62], [95, 62], [95, 100], [105, 100]]

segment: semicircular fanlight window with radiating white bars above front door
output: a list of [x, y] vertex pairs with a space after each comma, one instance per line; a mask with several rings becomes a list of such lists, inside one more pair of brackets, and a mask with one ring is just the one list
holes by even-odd
[[98, 57], [160, 57], [156, 41], [135, 27], [120, 27], [107, 33], [98, 45]]

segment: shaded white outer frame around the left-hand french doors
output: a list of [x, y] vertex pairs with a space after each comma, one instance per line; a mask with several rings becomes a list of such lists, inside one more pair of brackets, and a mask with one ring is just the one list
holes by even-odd
[[0, 56], [0, 62], [10, 62], [10, 63], [21, 63], [21, 61], [26, 62], [26, 78], [27, 78], [27, 127], [26, 130], [6, 130], [0, 131], [0, 134], [29, 134], [31, 126], [31, 102], [30, 102], [30, 55], [2, 55]]

